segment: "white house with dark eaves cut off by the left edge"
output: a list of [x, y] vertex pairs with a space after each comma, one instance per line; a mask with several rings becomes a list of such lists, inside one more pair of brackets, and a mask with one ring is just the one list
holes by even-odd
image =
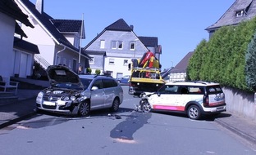
[[[28, 20], [28, 15], [25, 15], [17, 6], [16, 2], [10, 0], [0, 1], [0, 75], [6, 80], [16, 74], [30, 75], [32, 73], [32, 61], [34, 60], [34, 53], [39, 53], [37, 47], [30, 42], [22, 41], [26, 38], [26, 34], [17, 24], [17, 22], [24, 24], [24, 28], [30, 29], [34, 26]], [[14, 35], [21, 39], [15, 39]], [[32, 46], [34, 51], [21, 46], [19, 42], [23, 42], [28, 46]]]

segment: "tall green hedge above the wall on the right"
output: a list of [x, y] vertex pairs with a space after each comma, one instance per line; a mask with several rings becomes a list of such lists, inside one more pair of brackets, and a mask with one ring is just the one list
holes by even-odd
[[203, 39], [190, 58], [188, 79], [219, 82], [222, 86], [252, 91], [256, 86], [255, 30], [254, 18], [218, 29], [209, 41]]

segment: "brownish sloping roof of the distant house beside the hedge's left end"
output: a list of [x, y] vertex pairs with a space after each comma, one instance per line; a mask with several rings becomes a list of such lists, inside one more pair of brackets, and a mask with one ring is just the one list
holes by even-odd
[[190, 51], [176, 66], [171, 69], [171, 73], [185, 73], [189, 64], [190, 57], [194, 54], [194, 51]]

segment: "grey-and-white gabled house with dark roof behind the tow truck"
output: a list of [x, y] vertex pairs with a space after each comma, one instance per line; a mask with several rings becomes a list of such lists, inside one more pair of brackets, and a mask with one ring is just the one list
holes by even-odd
[[98, 69], [113, 78], [130, 75], [128, 64], [131, 59], [140, 59], [149, 50], [159, 59], [162, 51], [161, 46], [158, 46], [158, 38], [138, 37], [133, 26], [126, 24], [123, 19], [107, 26], [83, 48], [92, 57], [89, 61], [92, 73]]

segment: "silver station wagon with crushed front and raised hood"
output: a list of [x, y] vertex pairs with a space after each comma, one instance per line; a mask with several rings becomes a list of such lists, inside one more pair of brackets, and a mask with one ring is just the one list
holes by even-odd
[[114, 78], [77, 75], [60, 65], [48, 67], [47, 73], [51, 86], [39, 92], [37, 109], [86, 117], [94, 109], [116, 112], [123, 101], [123, 90]]

